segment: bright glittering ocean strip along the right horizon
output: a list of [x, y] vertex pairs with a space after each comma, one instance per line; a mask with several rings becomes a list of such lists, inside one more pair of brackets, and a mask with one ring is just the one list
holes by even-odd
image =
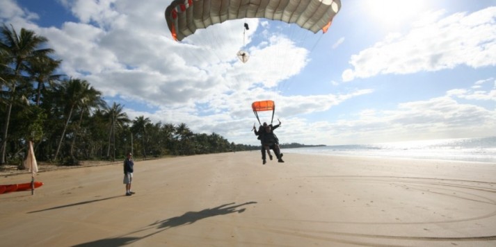
[[496, 164], [496, 137], [282, 148], [282, 153], [404, 157], [413, 159], [459, 160]]

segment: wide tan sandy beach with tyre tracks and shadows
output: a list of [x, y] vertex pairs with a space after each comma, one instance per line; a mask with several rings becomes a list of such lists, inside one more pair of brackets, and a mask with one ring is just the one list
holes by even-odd
[[[40, 172], [0, 246], [496, 246], [496, 164], [259, 152]], [[0, 184], [29, 182], [30, 174]]]

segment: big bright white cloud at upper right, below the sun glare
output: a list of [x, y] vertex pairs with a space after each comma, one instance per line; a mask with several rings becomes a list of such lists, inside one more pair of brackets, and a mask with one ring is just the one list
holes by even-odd
[[[438, 13], [436, 13], [438, 16]], [[406, 35], [394, 34], [383, 42], [351, 56], [353, 69], [342, 73], [344, 81], [378, 74], [413, 74], [467, 65], [496, 65], [496, 7], [470, 15], [456, 13], [422, 22]]]

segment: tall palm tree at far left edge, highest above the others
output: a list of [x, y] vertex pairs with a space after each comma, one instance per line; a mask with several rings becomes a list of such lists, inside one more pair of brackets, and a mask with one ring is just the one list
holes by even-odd
[[[6, 111], [5, 123], [2, 130], [2, 144], [0, 149], [0, 164], [5, 163], [8, 125], [10, 123], [10, 113], [12, 112], [13, 101], [15, 99], [15, 88], [18, 83], [22, 83], [22, 71], [26, 68], [26, 60], [35, 57], [47, 56], [53, 53], [53, 49], [38, 49], [47, 42], [46, 37], [35, 35], [33, 31], [21, 29], [20, 35], [17, 35], [14, 27], [9, 29], [5, 24], [1, 28], [0, 50], [6, 56], [8, 62], [8, 74], [11, 75], [6, 80], [4, 86], [10, 90], [10, 97]], [[6, 55], [5, 55], [6, 54]]]

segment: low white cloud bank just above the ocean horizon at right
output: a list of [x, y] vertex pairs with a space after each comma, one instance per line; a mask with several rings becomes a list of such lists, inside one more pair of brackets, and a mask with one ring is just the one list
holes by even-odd
[[[317, 133], [323, 133], [326, 137], [319, 138], [321, 142], [334, 139], [337, 144], [431, 139], [433, 135], [438, 138], [483, 137], [496, 129], [496, 109], [486, 110], [439, 97], [401, 103], [394, 110], [364, 110], [355, 120], [339, 120], [321, 128], [305, 129], [315, 132], [312, 137], [321, 137]], [[319, 141], [312, 143], [319, 144]]]

